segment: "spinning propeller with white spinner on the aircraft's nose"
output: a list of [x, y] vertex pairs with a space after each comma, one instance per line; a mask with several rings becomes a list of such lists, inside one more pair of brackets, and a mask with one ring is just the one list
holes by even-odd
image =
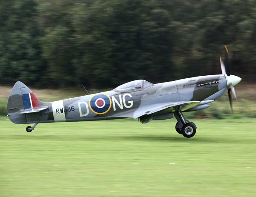
[[234, 86], [236, 86], [236, 84], [238, 84], [241, 81], [240, 77], [237, 77], [235, 75], [230, 75], [230, 60], [229, 60], [229, 52], [227, 49], [227, 46], [225, 45], [225, 60], [223, 63], [221, 57], [220, 57], [220, 62], [221, 62], [221, 71], [222, 74], [226, 75], [227, 78], [227, 92], [228, 92], [228, 98], [230, 101], [230, 107], [233, 112], [233, 105], [232, 105], [232, 94], [235, 97], [236, 101], [237, 101], [237, 95], [236, 95], [236, 90], [234, 88]]

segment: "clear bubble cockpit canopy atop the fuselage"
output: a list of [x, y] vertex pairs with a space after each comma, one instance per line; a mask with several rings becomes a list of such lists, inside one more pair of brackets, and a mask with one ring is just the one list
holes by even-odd
[[118, 86], [116, 89], [113, 89], [113, 91], [120, 91], [120, 92], [139, 91], [151, 86], [154, 86], [154, 84], [149, 83], [146, 80], [135, 80], [135, 81], [130, 81], [128, 83], [122, 84], [121, 86]]

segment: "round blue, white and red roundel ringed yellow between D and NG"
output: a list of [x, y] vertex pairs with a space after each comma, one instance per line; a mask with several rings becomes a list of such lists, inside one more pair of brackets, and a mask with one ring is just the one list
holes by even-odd
[[107, 94], [96, 94], [89, 100], [90, 109], [95, 114], [105, 114], [111, 108], [111, 99]]

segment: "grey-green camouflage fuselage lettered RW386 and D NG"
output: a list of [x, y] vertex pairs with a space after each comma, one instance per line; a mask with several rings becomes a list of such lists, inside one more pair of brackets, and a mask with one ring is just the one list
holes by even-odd
[[[17, 124], [137, 118], [165, 103], [217, 100], [226, 89], [224, 74], [192, 77], [134, 91], [114, 89], [51, 103], [39, 101], [38, 106], [46, 109], [20, 114], [20, 110], [26, 112], [22, 95], [32, 91], [23, 83], [17, 82], [10, 93], [7, 109], [10, 120]], [[152, 115], [157, 113], [159, 112]]]

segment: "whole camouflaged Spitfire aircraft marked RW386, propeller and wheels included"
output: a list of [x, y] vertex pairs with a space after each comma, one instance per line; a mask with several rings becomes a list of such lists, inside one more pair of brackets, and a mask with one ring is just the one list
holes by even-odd
[[220, 98], [226, 90], [231, 109], [231, 94], [237, 99], [234, 86], [241, 78], [230, 74], [227, 47], [224, 62], [220, 57], [222, 74], [157, 84], [135, 80], [111, 91], [50, 103], [39, 101], [25, 84], [18, 81], [8, 98], [8, 117], [16, 124], [34, 123], [32, 127], [26, 127], [27, 132], [38, 123], [138, 118], [144, 124], [175, 117], [176, 131], [184, 137], [193, 137], [196, 126], [185, 119], [183, 112], [209, 107], [209, 103]]

